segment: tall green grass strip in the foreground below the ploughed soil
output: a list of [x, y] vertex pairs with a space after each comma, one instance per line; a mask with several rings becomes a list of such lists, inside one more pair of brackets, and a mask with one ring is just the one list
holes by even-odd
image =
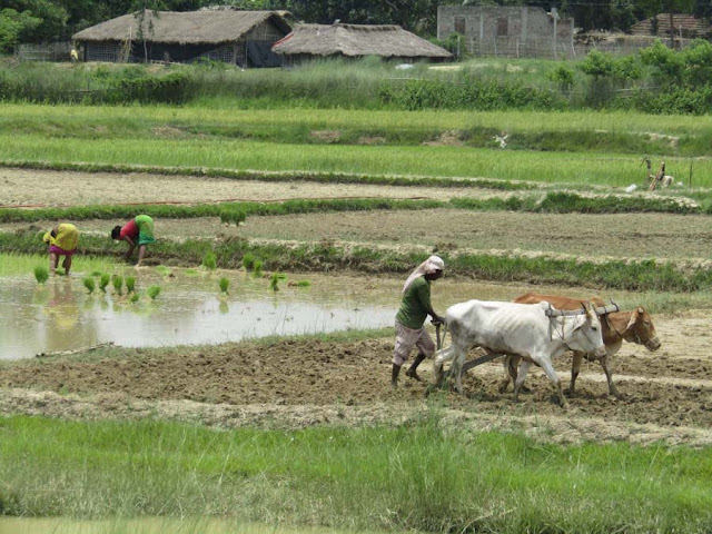
[[0, 419], [6, 515], [237, 516], [428, 532], [704, 532], [709, 449], [388, 428]]

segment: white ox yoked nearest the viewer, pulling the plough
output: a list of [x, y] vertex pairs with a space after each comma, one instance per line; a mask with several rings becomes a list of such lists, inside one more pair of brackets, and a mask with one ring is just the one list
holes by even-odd
[[[485, 300], [468, 300], [447, 308], [445, 324], [452, 335], [449, 347], [438, 350], [435, 357], [435, 384], [443, 378], [443, 364], [453, 360], [449, 376], [455, 377], [457, 392], [463, 392], [461, 370], [467, 353], [473, 347], [484, 348], [488, 354], [510, 354], [522, 357], [514, 384], [514, 399], [534, 363], [544, 369], [558, 394], [558, 402], [566, 398], [552, 359], [566, 350], [581, 350], [605, 356], [601, 337], [601, 322], [595, 308], [582, 305], [583, 312], [573, 316], [547, 316], [551, 308], [546, 301], [515, 304]], [[552, 308], [553, 309], [553, 308]]]

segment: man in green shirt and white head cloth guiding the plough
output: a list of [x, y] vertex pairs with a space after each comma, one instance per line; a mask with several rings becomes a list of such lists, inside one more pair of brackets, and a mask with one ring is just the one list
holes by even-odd
[[390, 385], [396, 387], [400, 366], [408, 359], [413, 347], [418, 355], [406, 370], [406, 376], [419, 380], [416, 369], [418, 365], [435, 353], [435, 344], [423, 326], [429, 315], [434, 324], [443, 323], [431, 304], [431, 281], [443, 276], [445, 263], [438, 256], [431, 256], [423, 261], [408, 277], [403, 286], [400, 309], [396, 314], [396, 346], [393, 352], [393, 370]]

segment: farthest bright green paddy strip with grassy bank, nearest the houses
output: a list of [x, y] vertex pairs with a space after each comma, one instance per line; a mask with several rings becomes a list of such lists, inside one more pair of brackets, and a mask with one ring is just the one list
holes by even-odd
[[[0, 134], [76, 139], [253, 139], [280, 144], [421, 145], [445, 132], [468, 146], [510, 150], [710, 155], [710, 117], [651, 117], [634, 112], [239, 110], [141, 107], [0, 106]], [[69, 110], [69, 112], [68, 112]], [[696, 120], [695, 120], [696, 119]], [[654, 123], [654, 127], [651, 126]], [[335, 132], [319, 137], [319, 131]], [[315, 134], [317, 132], [317, 134]], [[674, 139], [674, 142], [672, 141]]]

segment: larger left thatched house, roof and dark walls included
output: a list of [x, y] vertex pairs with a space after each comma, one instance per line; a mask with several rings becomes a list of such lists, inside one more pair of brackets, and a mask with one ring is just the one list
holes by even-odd
[[[85, 61], [191, 62], [199, 58], [240, 67], [277, 67], [275, 41], [291, 30], [287, 13], [202, 10], [129, 13], [81, 30], [72, 40]], [[140, 27], [139, 27], [140, 24]]]

